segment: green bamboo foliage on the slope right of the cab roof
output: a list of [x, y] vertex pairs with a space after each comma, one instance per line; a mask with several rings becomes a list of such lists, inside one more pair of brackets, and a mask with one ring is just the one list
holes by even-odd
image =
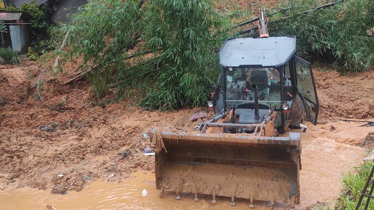
[[289, 0], [291, 14], [278, 15], [269, 22], [275, 35], [295, 35], [298, 54], [321, 60], [340, 72], [368, 70], [374, 64], [374, 39], [368, 38], [374, 26], [374, 1], [347, 0], [327, 9], [297, 14], [315, 7], [315, 1]]

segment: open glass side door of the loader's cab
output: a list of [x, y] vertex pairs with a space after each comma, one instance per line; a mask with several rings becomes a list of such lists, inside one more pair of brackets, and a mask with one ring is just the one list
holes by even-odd
[[317, 124], [318, 97], [310, 63], [294, 56], [295, 83], [309, 122]]

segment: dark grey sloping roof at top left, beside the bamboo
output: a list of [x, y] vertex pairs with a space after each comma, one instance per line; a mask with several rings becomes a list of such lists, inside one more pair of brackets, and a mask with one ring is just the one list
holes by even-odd
[[52, 15], [52, 22], [70, 22], [71, 17], [68, 14], [77, 13], [79, 7], [82, 7], [86, 3], [87, 0], [61, 0], [56, 12]]

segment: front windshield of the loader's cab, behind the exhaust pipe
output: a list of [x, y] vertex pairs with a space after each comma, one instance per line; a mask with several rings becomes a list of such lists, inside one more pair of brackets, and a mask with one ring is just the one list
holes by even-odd
[[[226, 104], [254, 104], [252, 84], [258, 88], [259, 104], [278, 106], [281, 104], [281, 78], [275, 68], [233, 68], [227, 70]], [[262, 106], [264, 107], [264, 106]], [[238, 107], [240, 108], [240, 106]], [[261, 109], [261, 106], [260, 106]]]

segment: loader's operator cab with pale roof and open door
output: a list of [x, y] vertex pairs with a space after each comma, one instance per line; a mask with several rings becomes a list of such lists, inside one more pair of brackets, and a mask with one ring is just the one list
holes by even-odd
[[278, 113], [276, 127], [283, 132], [290, 125], [298, 127], [305, 110], [307, 119], [316, 124], [312, 69], [295, 52], [294, 36], [226, 40], [220, 49], [222, 74], [211, 91], [217, 100], [215, 112], [233, 108], [232, 123], [248, 124], [261, 123], [273, 109]]

